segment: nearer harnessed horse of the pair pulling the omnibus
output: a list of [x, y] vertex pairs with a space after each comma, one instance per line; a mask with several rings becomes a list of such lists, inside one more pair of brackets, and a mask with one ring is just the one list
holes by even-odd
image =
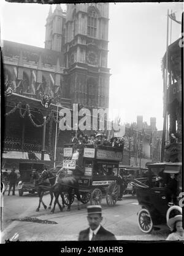
[[78, 200], [78, 210], [80, 210], [80, 193], [79, 193], [79, 182], [78, 178], [75, 176], [67, 176], [64, 168], [61, 168], [56, 175], [55, 187], [53, 193], [55, 195], [55, 201], [52, 209], [52, 213], [55, 212], [56, 203], [58, 203], [59, 195], [63, 192], [67, 192], [69, 195], [69, 204], [67, 206], [67, 211], [71, 211], [72, 204], [72, 190], [74, 194], [77, 195]]

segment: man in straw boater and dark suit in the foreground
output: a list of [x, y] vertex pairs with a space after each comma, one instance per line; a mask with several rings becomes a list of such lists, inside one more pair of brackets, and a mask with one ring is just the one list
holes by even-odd
[[102, 208], [100, 205], [88, 206], [88, 223], [89, 228], [82, 230], [79, 233], [79, 241], [106, 241], [116, 240], [113, 233], [105, 230], [101, 226]]

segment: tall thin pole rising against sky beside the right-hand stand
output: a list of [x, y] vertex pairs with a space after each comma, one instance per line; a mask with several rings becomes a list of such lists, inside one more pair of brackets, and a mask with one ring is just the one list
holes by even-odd
[[167, 10], [167, 41], [166, 41], [166, 79], [164, 83], [164, 123], [163, 123], [163, 139], [161, 147], [161, 162], [164, 161], [164, 149], [166, 143], [166, 120], [167, 120], [167, 76], [168, 76], [168, 37], [169, 37], [169, 9]]

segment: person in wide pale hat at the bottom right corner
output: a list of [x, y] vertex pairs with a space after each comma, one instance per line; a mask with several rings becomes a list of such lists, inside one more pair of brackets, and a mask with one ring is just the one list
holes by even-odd
[[182, 215], [175, 215], [167, 221], [167, 226], [171, 229], [172, 233], [167, 236], [167, 241], [184, 241], [184, 230], [182, 227]]

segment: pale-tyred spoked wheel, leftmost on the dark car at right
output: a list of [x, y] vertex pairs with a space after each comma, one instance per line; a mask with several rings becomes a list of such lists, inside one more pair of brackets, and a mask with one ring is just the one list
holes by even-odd
[[150, 233], [153, 230], [153, 222], [150, 212], [147, 209], [141, 209], [138, 213], [138, 225], [142, 232]]

